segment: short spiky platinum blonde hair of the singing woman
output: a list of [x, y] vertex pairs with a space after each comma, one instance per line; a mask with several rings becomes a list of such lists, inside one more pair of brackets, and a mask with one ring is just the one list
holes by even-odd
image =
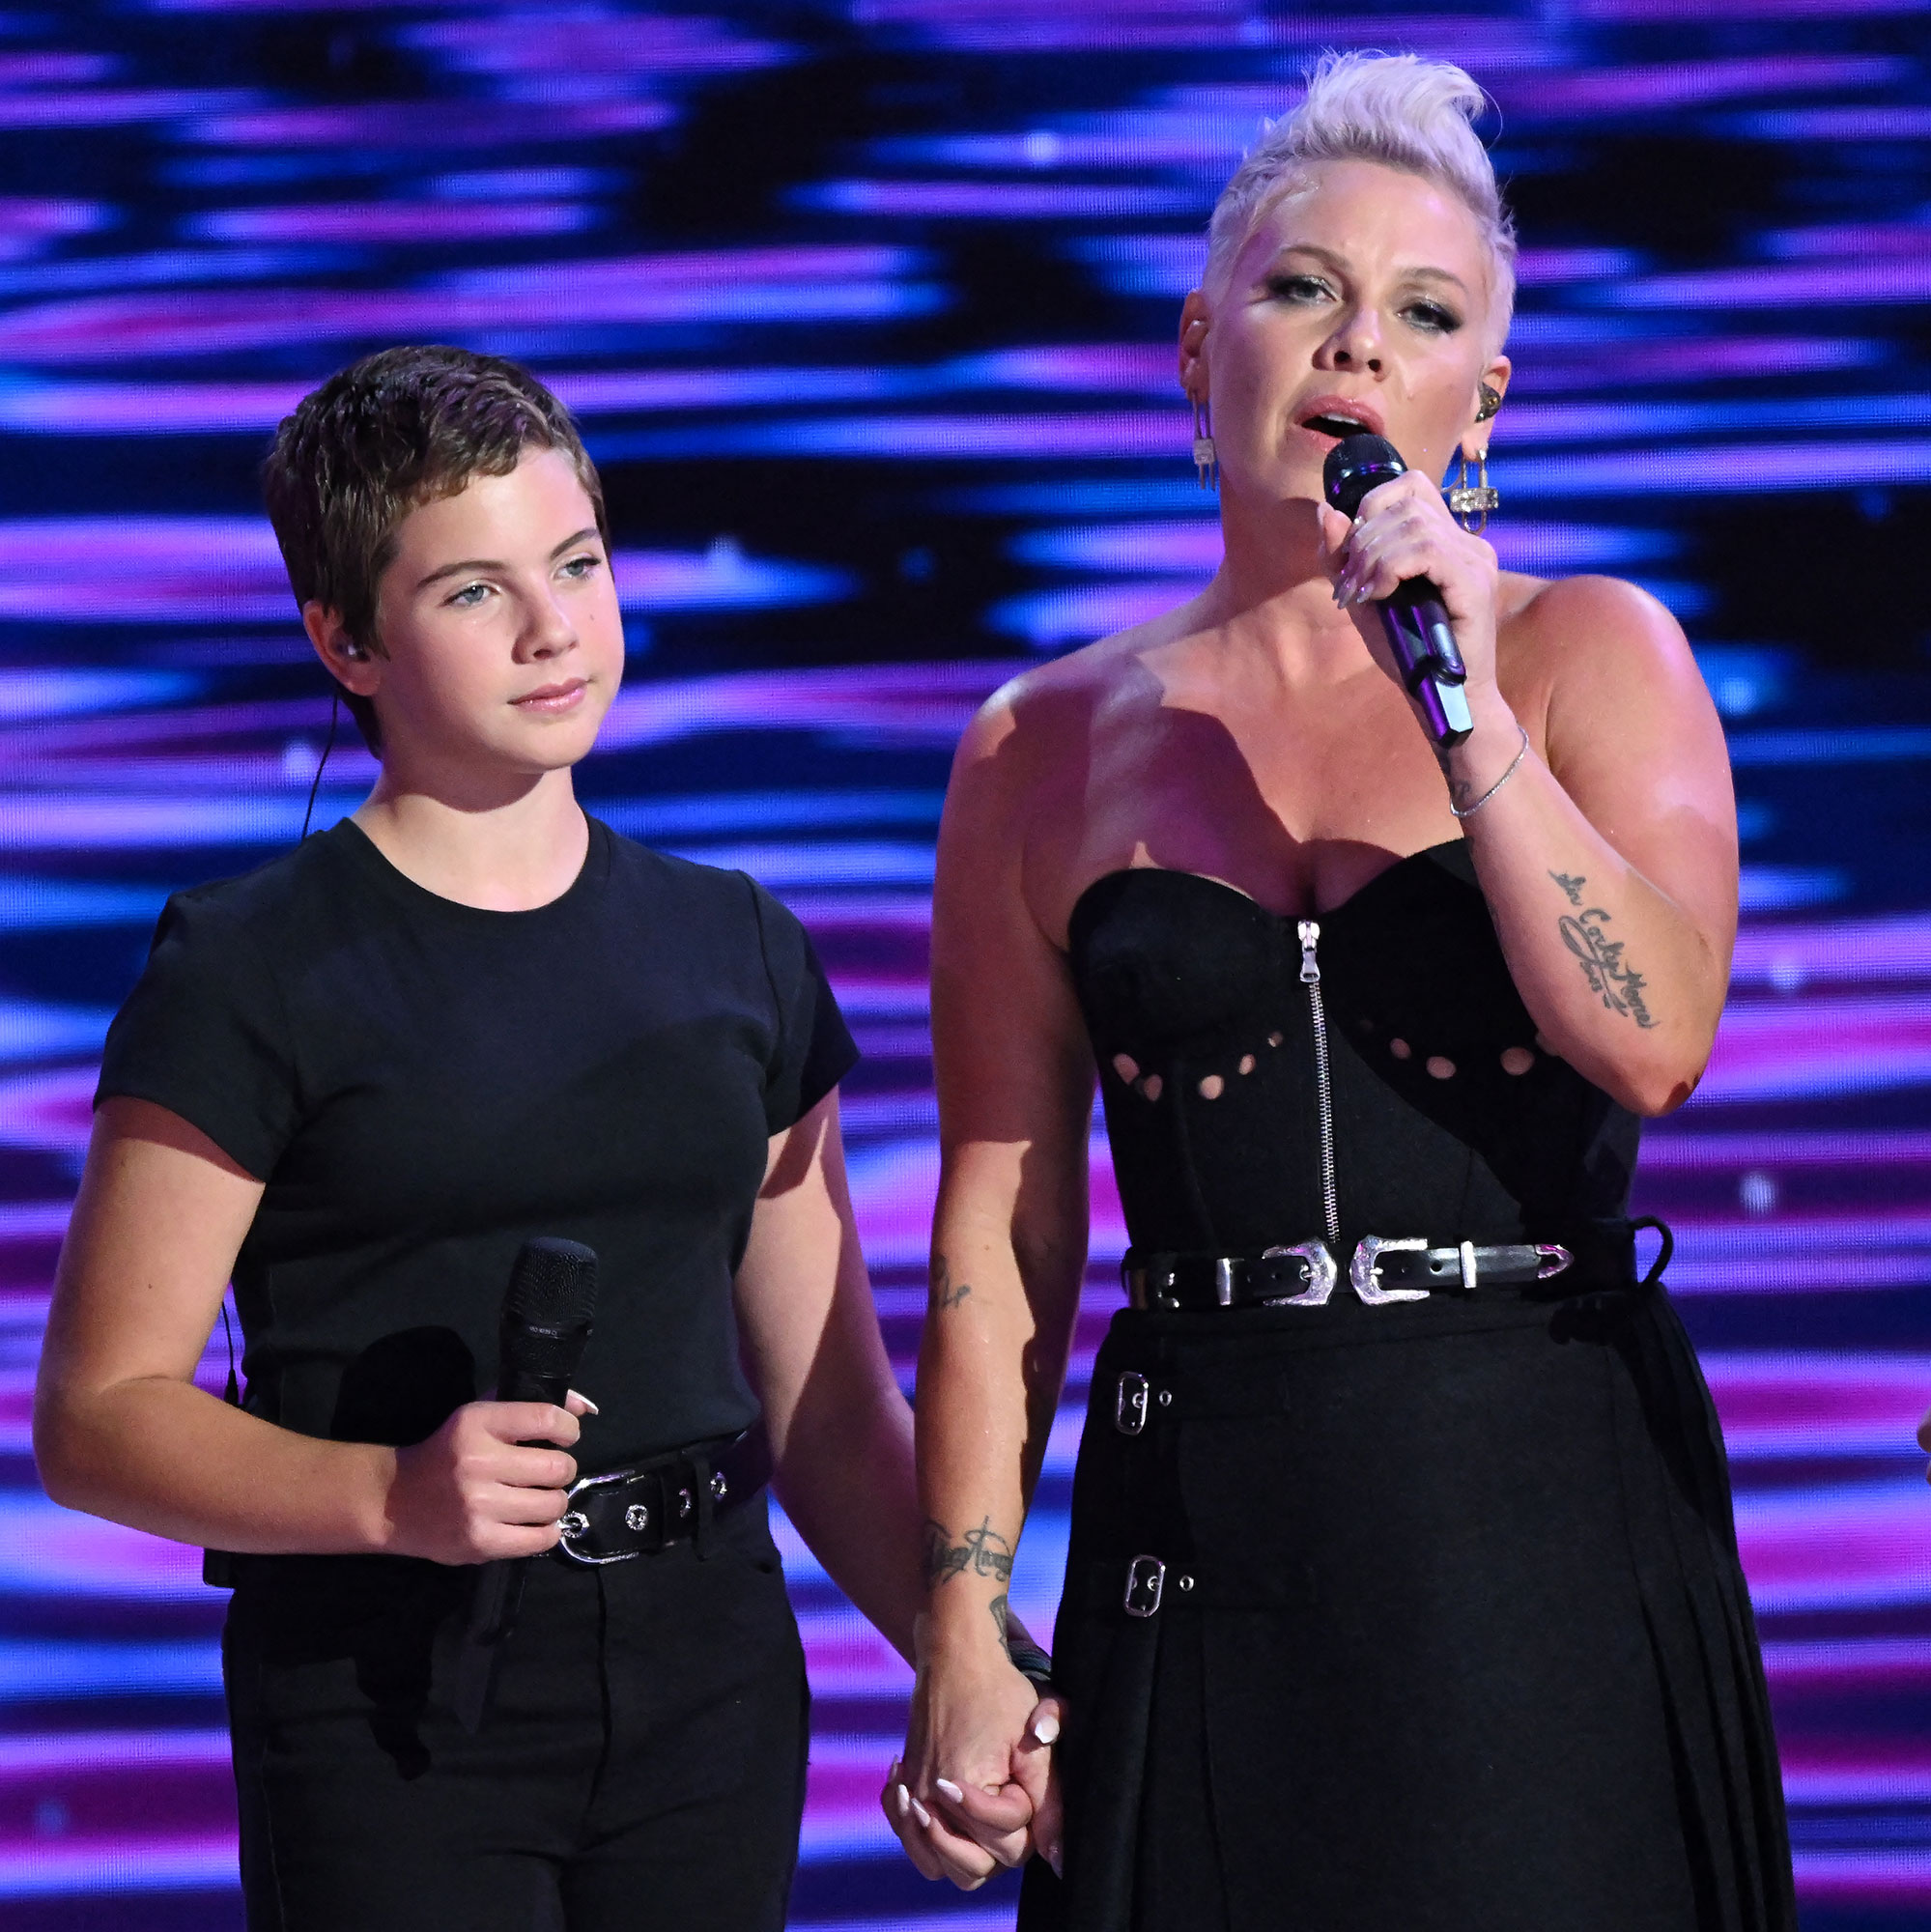
[[1207, 224], [1205, 288], [1218, 288], [1255, 222], [1309, 162], [1375, 160], [1446, 187], [1475, 216], [1493, 259], [1497, 348], [1516, 305], [1516, 224], [1473, 122], [1489, 97], [1446, 60], [1417, 54], [1323, 54], [1307, 99], [1261, 131], [1220, 189]]

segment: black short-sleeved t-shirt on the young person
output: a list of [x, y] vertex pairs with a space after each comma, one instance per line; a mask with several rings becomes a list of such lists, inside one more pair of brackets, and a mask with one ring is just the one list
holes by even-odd
[[236, 1260], [247, 1406], [407, 1443], [496, 1389], [531, 1235], [599, 1256], [579, 1466], [757, 1416], [732, 1275], [770, 1134], [857, 1059], [803, 927], [743, 873], [591, 819], [562, 898], [485, 912], [350, 821], [168, 900], [97, 1099], [266, 1182]]

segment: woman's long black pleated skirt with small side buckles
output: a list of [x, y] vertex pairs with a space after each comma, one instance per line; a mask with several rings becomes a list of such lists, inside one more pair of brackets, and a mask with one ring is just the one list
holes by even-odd
[[1661, 1287], [1120, 1314], [1054, 1663], [1066, 1878], [1033, 1862], [1021, 1932], [1796, 1926], [1722, 1437]]

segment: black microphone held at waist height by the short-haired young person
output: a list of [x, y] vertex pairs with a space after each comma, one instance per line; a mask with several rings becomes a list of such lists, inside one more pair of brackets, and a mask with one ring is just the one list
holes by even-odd
[[[498, 1329], [496, 1401], [564, 1406], [570, 1381], [591, 1339], [597, 1308], [597, 1254], [575, 1240], [537, 1235], [523, 1242], [510, 1269]], [[525, 1443], [546, 1449], [548, 1443]], [[456, 1716], [465, 1731], [483, 1725], [496, 1646], [523, 1604], [527, 1557], [506, 1557], [477, 1571], [469, 1627], [456, 1660]]]

